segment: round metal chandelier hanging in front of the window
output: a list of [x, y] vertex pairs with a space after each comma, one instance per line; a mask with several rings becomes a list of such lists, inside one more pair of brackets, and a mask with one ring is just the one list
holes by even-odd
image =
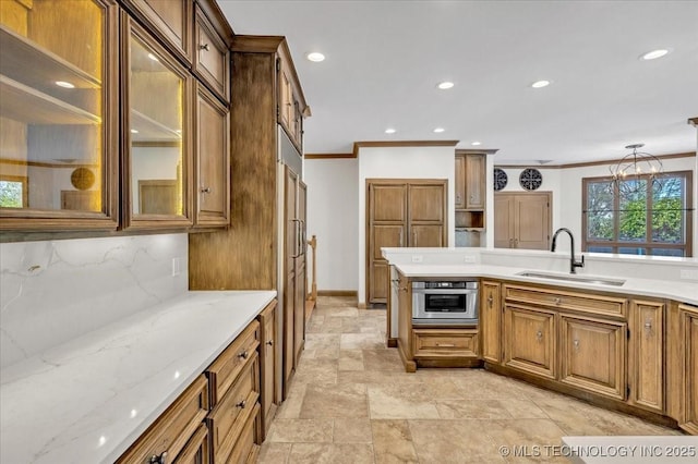
[[624, 156], [617, 164], [610, 168], [613, 186], [621, 195], [647, 192], [642, 181], [651, 183], [653, 188], [662, 186], [661, 178], [664, 172], [662, 161], [653, 155], [637, 150], [643, 146], [645, 144], [627, 145], [625, 148], [631, 149], [633, 152]]

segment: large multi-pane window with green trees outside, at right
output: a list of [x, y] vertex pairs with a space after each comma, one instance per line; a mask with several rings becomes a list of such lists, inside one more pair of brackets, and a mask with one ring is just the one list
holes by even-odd
[[637, 192], [618, 195], [611, 178], [582, 180], [582, 249], [691, 256], [691, 172], [669, 172], [654, 185], [625, 182], [637, 183]]

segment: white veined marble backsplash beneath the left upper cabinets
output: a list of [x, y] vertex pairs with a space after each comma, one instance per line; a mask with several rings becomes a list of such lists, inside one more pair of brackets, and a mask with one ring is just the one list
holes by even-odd
[[0, 269], [5, 367], [185, 292], [188, 236], [3, 243]]

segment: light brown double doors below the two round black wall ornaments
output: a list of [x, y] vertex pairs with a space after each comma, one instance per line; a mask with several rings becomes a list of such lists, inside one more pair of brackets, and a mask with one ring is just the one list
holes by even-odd
[[549, 192], [495, 193], [494, 246], [549, 249], [550, 205]]

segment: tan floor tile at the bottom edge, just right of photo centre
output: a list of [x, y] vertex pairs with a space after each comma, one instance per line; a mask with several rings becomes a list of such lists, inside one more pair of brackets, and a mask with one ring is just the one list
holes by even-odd
[[371, 420], [376, 464], [417, 463], [407, 420]]

